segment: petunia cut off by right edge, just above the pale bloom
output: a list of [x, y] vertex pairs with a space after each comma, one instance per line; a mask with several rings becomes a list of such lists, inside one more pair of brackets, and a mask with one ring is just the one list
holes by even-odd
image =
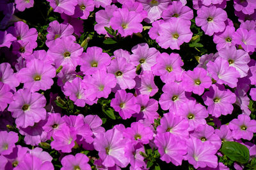
[[234, 42], [241, 45], [246, 52], [254, 52], [256, 48], [256, 31], [254, 29], [248, 31], [242, 27], [236, 30], [234, 33]]

